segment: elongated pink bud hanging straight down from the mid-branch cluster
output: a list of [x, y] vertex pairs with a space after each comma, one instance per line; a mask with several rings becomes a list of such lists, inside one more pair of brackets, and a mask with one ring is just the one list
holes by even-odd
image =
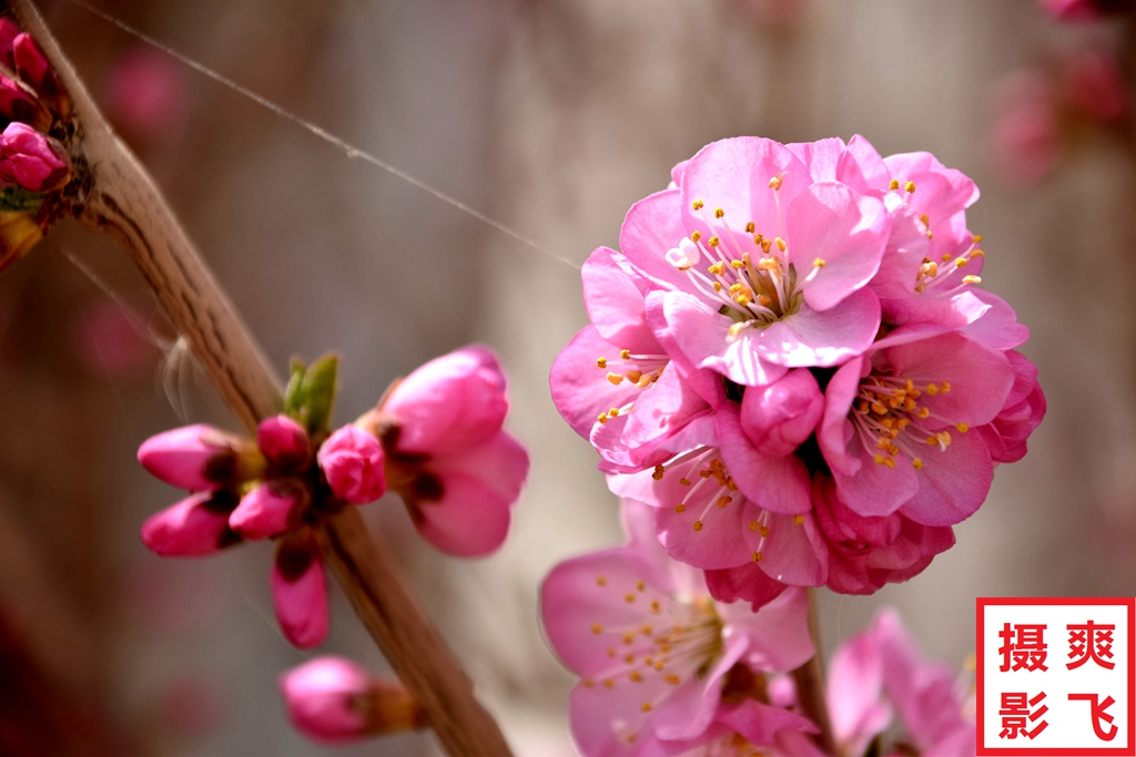
[[327, 586], [314, 547], [294, 541], [281, 544], [270, 583], [284, 638], [300, 649], [323, 644], [328, 624]]

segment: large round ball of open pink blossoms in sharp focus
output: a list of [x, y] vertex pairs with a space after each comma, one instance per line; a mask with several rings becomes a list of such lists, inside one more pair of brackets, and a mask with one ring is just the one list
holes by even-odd
[[974, 182], [860, 136], [724, 140], [673, 179], [584, 264], [561, 415], [719, 600], [916, 575], [1045, 412]]

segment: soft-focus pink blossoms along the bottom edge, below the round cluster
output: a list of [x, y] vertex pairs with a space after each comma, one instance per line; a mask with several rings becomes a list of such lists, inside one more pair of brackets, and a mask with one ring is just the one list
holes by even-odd
[[[569, 705], [580, 752], [825, 757], [787, 675], [813, 654], [804, 590], [757, 612], [719, 603], [701, 571], [667, 556], [648, 506], [628, 502], [624, 515], [625, 546], [561, 563], [542, 588], [549, 641], [580, 676]], [[974, 754], [969, 692], [921, 659], [894, 612], [840, 647], [829, 674], [835, 755]], [[907, 750], [866, 751], [895, 710]]]

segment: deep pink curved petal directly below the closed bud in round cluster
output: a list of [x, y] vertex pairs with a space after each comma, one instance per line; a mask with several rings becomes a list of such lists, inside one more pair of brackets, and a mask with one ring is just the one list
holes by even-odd
[[736, 404], [724, 404], [716, 418], [722, 462], [746, 497], [775, 513], [796, 515], [812, 510], [809, 471], [800, 459], [759, 453], [742, 429]]

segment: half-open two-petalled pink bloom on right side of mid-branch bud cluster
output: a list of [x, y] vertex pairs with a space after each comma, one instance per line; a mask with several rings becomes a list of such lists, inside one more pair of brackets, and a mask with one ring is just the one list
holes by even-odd
[[410, 373], [367, 421], [418, 532], [451, 555], [501, 546], [528, 473], [527, 453], [502, 429], [504, 393], [493, 354], [466, 347]]

